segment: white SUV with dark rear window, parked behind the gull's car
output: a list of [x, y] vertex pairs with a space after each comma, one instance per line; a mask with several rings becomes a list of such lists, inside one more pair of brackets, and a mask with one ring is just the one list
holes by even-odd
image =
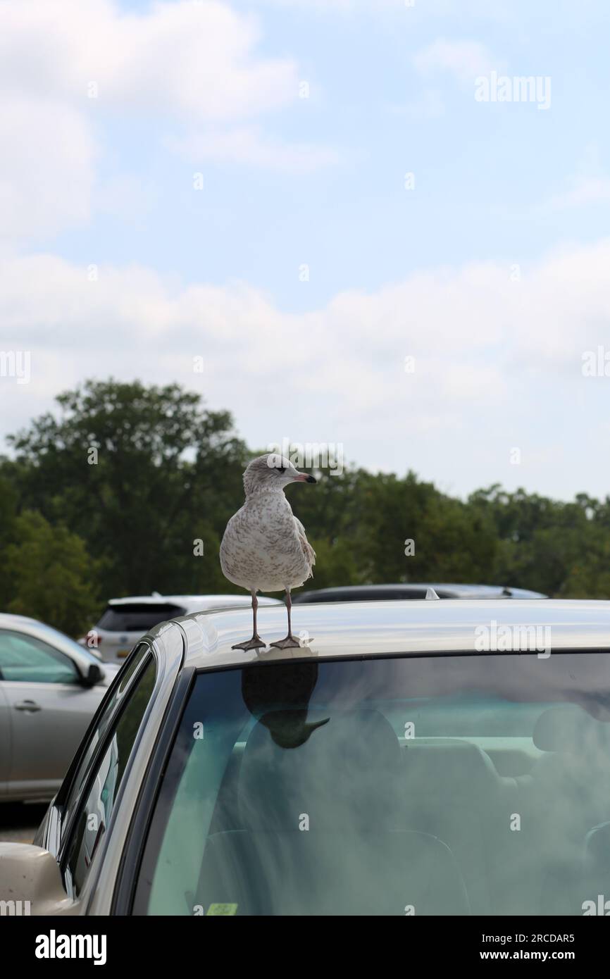
[[[281, 605], [278, 598], [259, 596], [259, 606]], [[98, 624], [78, 642], [99, 650], [105, 663], [120, 663], [138, 639], [167, 619], [209, 609], [251, 608], [250, 595], [135, 595], [111, 598]]]

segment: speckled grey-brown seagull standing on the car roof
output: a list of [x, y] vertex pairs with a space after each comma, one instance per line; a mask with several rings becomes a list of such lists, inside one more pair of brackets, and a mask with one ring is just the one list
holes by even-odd
[[265, 645], [257, 631], [257, 591], [286, 592], [288, 634], [270, 645], [278, 649], [300, 645], [291, 629], [290, 591], [312, 578], [315, 552], [305, 527], [293, 514], [284, 487], [315, 482], [313, 476], [300, 473], [277, 452], [258, 455], [244, 473], [246, 502], [226, 525], [220, 567], [229, 582], [251, 592], [254, 629], [252, 639], [238, 642], [232, 649], [261, 649]]

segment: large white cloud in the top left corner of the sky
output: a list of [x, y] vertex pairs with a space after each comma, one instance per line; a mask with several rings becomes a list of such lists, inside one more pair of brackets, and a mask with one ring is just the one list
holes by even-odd
[[[150, 117], [161, 132], [188, 124], [218, 161], [333, 162], [324, 148], [274, 143], [253, 121], [299, 96], [295, 62], [261, 54], [259, 41], [256, 19], [219, 0], [138, 14], [113, 0], [0, 0], [3, 250], [87, 221], [93, 206], [149, 206], [154, 195], [134, 200], [125, 175], [96, 185], [98, 119]], [[213, 137], [200, 134], [210, 126]]]

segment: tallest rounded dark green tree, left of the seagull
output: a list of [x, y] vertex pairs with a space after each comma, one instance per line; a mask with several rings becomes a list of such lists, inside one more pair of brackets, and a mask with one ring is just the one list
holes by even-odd
[[112, 379], [57, 402], [59, 417], [12, 438], [16, 480], [29, 508], [86, 542], [101, 595], [217, 589], [217, 541], [243, 498], [246, 448], [230, 415], [175, 384]]

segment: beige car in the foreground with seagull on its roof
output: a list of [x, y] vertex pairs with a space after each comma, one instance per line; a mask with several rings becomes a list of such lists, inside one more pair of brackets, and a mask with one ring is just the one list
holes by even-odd
[[[32, 844], [31, 914], [583, 915], [610, 893], [610, 602], [249, 610], [153, 629]], [[269, 643], [285, 610], [259, 610]], [[23, 907], [23, 905], [21, 906]], [[602, 912], [603, 913], [603, 912]]]

